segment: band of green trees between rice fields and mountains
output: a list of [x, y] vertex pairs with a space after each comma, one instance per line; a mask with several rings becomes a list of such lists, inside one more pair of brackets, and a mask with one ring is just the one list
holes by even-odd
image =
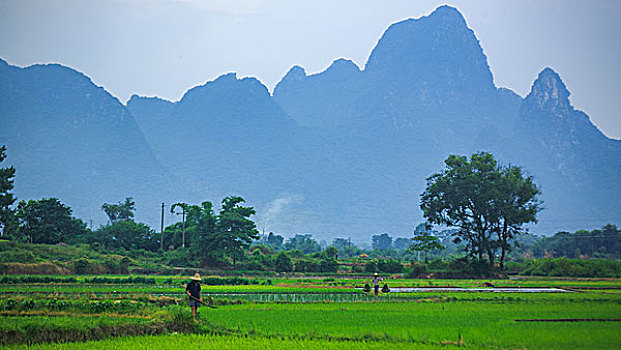
[[[0, 162], [6, 158], [5, 152], [2, 146]], [[322, 247], [311, 235], [297, 234], [287, 240], [271, 232], [261, 236], [251, 219], [255, 209], [245, 206], [239, 196], [222, 199], [218, 211], [210, 201], [200, 205], [175, 203], [170, 210], [180, 215], [181, 221], [166, 227], [162, 234], [134, 220], [135, 202], [127, 197], [102, 204], [108, 223], [90, 230], [57, 198], [14, 205], [14, 176], [13, 167], [0, 168], [0, 229], [4, 238], [29, 243], [89, 243], [126, 251], [156, 252], [163, 247], [164, 251], [178, 252], [177, 262], [200, 266], [235, 268], [243, 261], [257, 268], [288, 271], [294, 269], [289, 266], [293, 258], [298, 270], [333, 270], [337, 259], [361, 254], [382, 261], [421, 260], [422, 255], [428, 261], [430, 257], [459, 256], [463, 252], [469, 261], [477, 266], [485, 262], [484, 270], [493, 272], [504, 270], [507, 257], [526, 254], [525, 247], [530, 247], [533, 256], [572, 258], [618, 258], [621, 251], [614, 225], [573, 234], [560, 232], [543, 239], [525, 235], [525, 225], [536, 223], [542, 209], [540, 190], [520, 167], [499, 165], [485, 152], [469, 158], [450, 155], [445, 168], [427, 178], [420, 196], [426, 222], [409, 238], [374, 235], [370, 250], [346, 238], [334, 238], [330, 246]], [[537, 243], [530, 244], [533, 241]]]

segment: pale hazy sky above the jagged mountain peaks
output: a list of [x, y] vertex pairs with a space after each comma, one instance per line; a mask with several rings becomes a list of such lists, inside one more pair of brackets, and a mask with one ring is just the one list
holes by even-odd
[[445, 3], [475, 31], [496, 85], [525, 96], [550, 66], [573, 105], [621, 139], [619, 0], [2, 0], [0, 57], [71, 66], [123, 102], [178, 100], [231, 71], [272, 90], [294, 64], [364, 67], [390, 24]]

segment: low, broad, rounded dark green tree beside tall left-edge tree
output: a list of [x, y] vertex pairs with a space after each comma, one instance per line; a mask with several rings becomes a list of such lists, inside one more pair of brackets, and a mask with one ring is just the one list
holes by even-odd
[[19, 237], [30, 243], [67, 242], [87, 232], [86, 223], [71, 216], [71, 208], [56, 198], [21, 201], [16, 217]]

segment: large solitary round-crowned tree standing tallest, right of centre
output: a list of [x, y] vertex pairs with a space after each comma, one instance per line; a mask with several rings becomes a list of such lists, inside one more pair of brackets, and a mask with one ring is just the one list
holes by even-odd
[[444, 163], [442, 172], [427, 178], [420, 203], [423, 215], [430, 224], [457, 228], [454, 241], [464, 242], [479, 261], [487, 255], [490, 268], [500, 249], [504, 267], [511, 240], [526, 232], [525, 224], [536, 222], [539, 189], [519, 167], [500, 166], [486, 152], [470, 159], [450, 155]]

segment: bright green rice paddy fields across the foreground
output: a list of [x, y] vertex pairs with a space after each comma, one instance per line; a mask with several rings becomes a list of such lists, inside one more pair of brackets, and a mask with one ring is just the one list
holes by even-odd
[[[487, 281], [496, 286], [570, 290], [560, 293], [430, 291], [375, 297], [358, 289], [368, 283], [365, 280], [273, 279], [271, 285], [261, 281], [204, 286], [211, 307], [200, 308], [196, 318], [178, 294], [183, 281], [168, 278], [158, 279], [155, 285], [115, 285], [78, 279], [67, 284], [0, 285], [0, 345], [10, 349], [621, 349], [619, 280]], [[388, 283], [391, 287], [477, 287], [483, 282]], [[265, 297], [271, 294], [289, 297]]]

